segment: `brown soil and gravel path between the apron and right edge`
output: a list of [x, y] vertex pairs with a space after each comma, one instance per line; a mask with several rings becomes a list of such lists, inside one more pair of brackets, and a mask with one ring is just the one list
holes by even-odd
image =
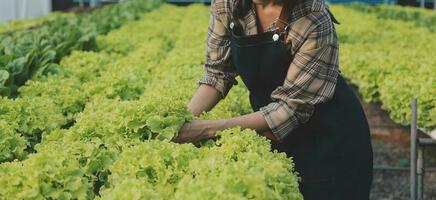
[[[394, 123], [380, 104], [362, 100], [361, 104], [368, 118], [374, 151], [371, 200], [410, 199], [409, 128]], [[424, 177], [424, 199], [436, 200], [436, 147], [428, 148], [425, 156], [426, 167], [433, 170]]]

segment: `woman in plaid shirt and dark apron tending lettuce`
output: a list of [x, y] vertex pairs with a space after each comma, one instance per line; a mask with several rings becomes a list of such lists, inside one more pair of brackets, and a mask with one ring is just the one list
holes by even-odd
[[368, 199], [368, 125], [339, 74], [332, 21], [322, 0], [215, 0], [206, 73], [188, 107], [194, 115], [211, 110], [239, 75], [254, 112], [187, 123], [175, 141], [255, 129], [293, 158], [305, 199]]

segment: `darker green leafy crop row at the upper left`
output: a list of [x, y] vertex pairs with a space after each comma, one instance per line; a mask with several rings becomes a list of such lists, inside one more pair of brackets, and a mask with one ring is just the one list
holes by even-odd
[[[129, 0], [91, 13], [54, 14], [0, 33], [0, 96], [18, 95], [27, 80], [58, 73], [58, 63], [74, 50], [94, 50], [98, 35], [141, 18], [160, 0]], [[35, 24], [36, 27], [29, 28]], [[16, 28], [16, 29], [14, 29]]]

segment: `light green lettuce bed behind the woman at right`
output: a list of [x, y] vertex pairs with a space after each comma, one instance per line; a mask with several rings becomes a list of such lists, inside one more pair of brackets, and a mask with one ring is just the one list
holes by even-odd
[[343, 74], [358, 86], [366, 101], [381, 103], [400, 124], [410, 124], [410, 102], [417, 98], [419, 126], [435, 129], [436, 32], [429, 27], [434, 28], [436, 23], [423, 27], [416, 22], [380, 15], [386, 14], [386, 9], [399, 13], [422, 12], [433, 19], [436, 14], [401, 7], [364, 8], [372, 12], [356, 10], [354, 6], [332, 6], [342, 22], [337, 30]]

